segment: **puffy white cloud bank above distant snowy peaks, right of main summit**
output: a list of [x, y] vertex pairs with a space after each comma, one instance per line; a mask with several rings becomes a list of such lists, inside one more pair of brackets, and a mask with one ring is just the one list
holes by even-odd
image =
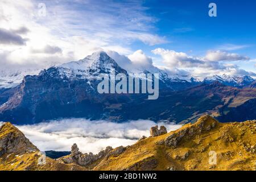
[[[208, 51], [205, 57], [189, 56], [184, 52], [157, 48], [152, 53], [160, 55], [164, 68], [171, 73], [186, 74], [187, 76], [203, 79], [213, 75], [255, 76], [254, 72], [247, 72], [230, 61], [249, 60], [249, 57], [228, 53], [224, 51]], [[182, 68], [182, 69], [181, 69]], [[183, 73], [182, 73], [183, 72]]]

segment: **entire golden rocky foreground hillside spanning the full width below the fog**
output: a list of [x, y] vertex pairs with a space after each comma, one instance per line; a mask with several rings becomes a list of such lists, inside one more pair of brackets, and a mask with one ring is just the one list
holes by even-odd
[[53, 160], [42, 155], [10, 123], [0, 128], [1, 170], [256, 170], [256, 121], [220, 123], [205, 115], [194, 124], [151, 135], [127, 147], [106, 147], [98, 154], [71, 154]]

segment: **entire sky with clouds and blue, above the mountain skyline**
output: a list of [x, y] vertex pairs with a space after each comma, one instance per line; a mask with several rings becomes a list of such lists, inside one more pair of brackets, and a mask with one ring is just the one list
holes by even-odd
[[[211, 2], [217, 17], [208, 15]], [[48, 67], [103, 49], [170, 74], [256, 77], [254, 1], [3, 0], [1, 7], [7, 69]]]

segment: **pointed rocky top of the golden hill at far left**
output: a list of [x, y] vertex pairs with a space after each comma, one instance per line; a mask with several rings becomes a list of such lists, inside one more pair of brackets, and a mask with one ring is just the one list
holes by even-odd
[[39, 150], [15, 126], [4, 123], [0, 127], [0, 156], [12, 153], [20, 155], [27, 151]]

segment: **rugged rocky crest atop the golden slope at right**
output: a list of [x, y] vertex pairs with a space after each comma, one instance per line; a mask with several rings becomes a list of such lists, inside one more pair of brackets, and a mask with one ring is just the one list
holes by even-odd
[[210, 131], [216, 126], [216, 119], [213, 119], [209, 115], [201, 117], [194, 125], [188, 124], [177, 130], [175, 133], [169, 135], [166, 139], [160, 140], [157, 144], [164, 144], [167, 147], [177, 147], [177, 144], [182, 139], [189, 139], [195, 135], [203, 133], [203, 131]]

